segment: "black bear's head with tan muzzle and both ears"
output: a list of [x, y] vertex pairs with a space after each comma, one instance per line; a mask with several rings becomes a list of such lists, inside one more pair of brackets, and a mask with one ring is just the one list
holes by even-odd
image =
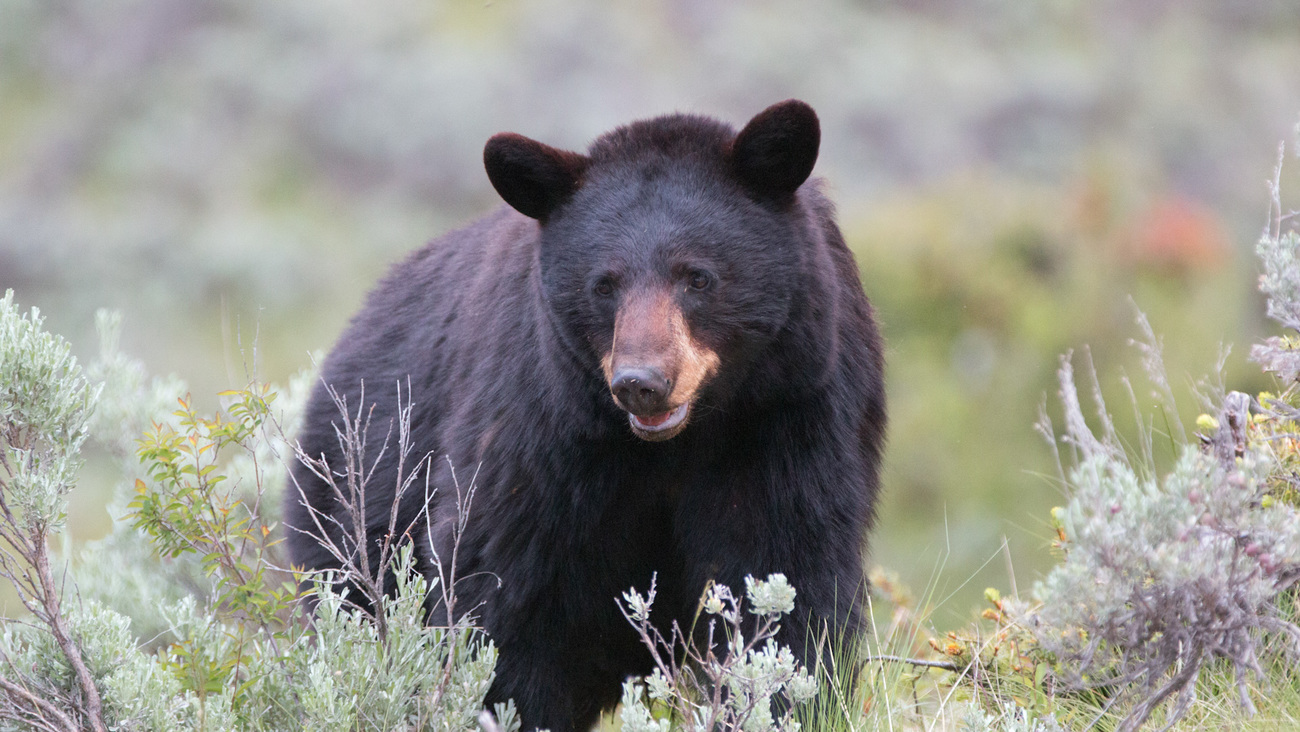
[[670, 439], [693, 408], [725, 408], [785, 328], [812, 235], [797, 191], [819, 143], [797, 100], [740, 133], [684, 114], [636, 122], [586, 155], [488, 142], [493, 186], [540, 224], [552, 322], [637, 437]]

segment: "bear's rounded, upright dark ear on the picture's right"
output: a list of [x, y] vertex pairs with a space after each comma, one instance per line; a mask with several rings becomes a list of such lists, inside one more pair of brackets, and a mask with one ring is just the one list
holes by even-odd
[[754, 198], [788, 202], [812, 174], [820, 144], [816, 112], [798, 99], [779, 101], [736, 135], [732, 170]]

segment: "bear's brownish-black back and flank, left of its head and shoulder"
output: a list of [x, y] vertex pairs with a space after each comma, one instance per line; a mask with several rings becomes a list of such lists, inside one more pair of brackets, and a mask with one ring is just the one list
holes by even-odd
[[[529, 304], [536, 296], [536, 229], [534, 221], [500, 207], [393, 265], [321, 364], [298, 436], [303, 451], [342, 471], [347, 456], [338, 430], [347, 421], [368, 429], [372, 459], [385, 443], [396, 451], [400, 411], [410, 408], [408, 441], [419, 447], [417, 460], [450, 449], [443, 426], [458, 411], [469, 404], [493, 411], [484, 399], [502, 394], [491, 385], [517, 378], [511, 372], [524, 367], [519, 348], [536, 335]], [[368, 481], [372, 517], [387, 517], [396, 469], [394, 460], [384, 460]], [[334, 568], [313, 536], [295, 530], [316, 530], [308, 506], [330, 514], [334, 491], [298, 462], [292, 478], [285, 510], [290, 556], [312, 569]], [[403, 527], [419, 511], [415, 495], [407, 503]]]

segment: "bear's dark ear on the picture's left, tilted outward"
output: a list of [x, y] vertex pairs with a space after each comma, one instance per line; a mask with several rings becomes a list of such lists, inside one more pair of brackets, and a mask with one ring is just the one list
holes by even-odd
[[582, 185], [586, 156], [500, 133], [484, 147], [488, 179], [515, 211], [546, 221]]

